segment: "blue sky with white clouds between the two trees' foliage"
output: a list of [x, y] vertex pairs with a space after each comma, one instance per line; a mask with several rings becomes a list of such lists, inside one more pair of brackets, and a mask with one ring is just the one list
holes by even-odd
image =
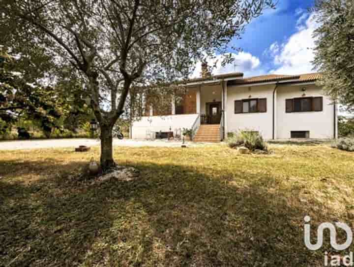
[[[314, 72], [312, 33], [317, 24], [309, 11], [312, 5], [313, 0], [279, 0], [276, 9], [266, 10], [245, 27], [241, 39], [232, 40], [228, 52], [234, 53], [235, 62], [225, 67], [217, 65], [213, 73], [241, 71], [248, 77]], [[232, 50], [233, 46], [242, 52]], [[209, 65], [213, 62], [210, 60]], [[199, 66], [193, 76], [198, 73]]]

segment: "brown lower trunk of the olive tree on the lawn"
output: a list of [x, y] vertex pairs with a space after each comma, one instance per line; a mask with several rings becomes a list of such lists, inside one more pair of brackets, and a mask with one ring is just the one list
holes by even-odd
[[115, 167], [113, 160], [112, 126], [101, 125], [101, 167], [103, 170]]

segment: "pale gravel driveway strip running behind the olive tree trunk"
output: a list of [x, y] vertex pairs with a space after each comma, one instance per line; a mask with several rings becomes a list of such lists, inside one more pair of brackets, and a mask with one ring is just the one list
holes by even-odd
[[[180, 147], [181, 141], [167, 140], [132, 140], [132, 139], [114, 139], [114, 146], [159, 146], [159, 147]], [[15, 140], [0, 141], [0, 150], [18, 150], [18, 149], [39, 149], [56, 147], [77, 147], [79, 145], [95, 146], [100, 142], [97, 139], [72, 138], [72, 139], [45, 139], [45, 140]], [[187, 146], [201, 146], [206, 143], [186, 142]]]

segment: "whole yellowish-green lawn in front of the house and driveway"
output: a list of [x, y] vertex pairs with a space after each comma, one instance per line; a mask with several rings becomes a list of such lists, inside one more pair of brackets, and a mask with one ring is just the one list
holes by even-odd
[[138, 179], [99, 185], [75, 175], [98, 148], [0, 151], [0, 266], [323, 266], [303, 218], [353, 228], [354, 153], [270, 148], [119, 147]]

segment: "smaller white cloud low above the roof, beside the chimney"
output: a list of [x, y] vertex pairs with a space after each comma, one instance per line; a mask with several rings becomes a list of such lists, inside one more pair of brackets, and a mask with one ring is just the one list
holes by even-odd
[[[224, 55], [217, 55], [213, 59], [207, 59], [207, 63], [210, 67], [216, 65], [216, 67], [212, 69], [212, 74], [216, 75], [230, 72], [243, 72], [244, 76], [252, 76], [265, 73], [265, 71], [260, 68], [261, 61], [258, 57], [255, 57], [248, 52], [238, 52], [237, 54], [232, 53], [232, 56], [235, 60], [225, 66], [221, 65]], [[201, 62], [198, 62], [192, 77], [200, 77], [201, 70]]]

